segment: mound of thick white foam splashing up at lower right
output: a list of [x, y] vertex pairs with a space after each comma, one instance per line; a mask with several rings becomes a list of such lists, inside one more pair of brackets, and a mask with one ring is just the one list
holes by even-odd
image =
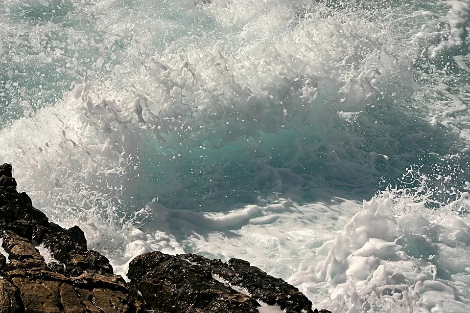
[[335, 313], [468, 312], [470, 194], [454, 192], [459, 198], [438, 210], [425, 209], [430, 192], [421, 187], [364, 201], [316, 249], [315, 259], [324, 259], [304, 262], [290, 281]]

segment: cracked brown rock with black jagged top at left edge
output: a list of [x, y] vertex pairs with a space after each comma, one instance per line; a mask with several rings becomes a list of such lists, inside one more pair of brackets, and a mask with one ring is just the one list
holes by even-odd
[[[87, 249], [83, 231], [49, 223], [16, 191], [11, 166], [0, 166], [0, 313], [139, 312], [108, 259]], [[46, 246], [58, 262], [46, 264], [33, 245]]]

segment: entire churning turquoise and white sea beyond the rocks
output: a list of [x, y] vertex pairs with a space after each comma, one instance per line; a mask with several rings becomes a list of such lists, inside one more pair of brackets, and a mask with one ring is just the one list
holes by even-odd
[[0, 161], [125, 275], [243, 258], [333, 313], [470, 312], [464, 0], [0, 0]]

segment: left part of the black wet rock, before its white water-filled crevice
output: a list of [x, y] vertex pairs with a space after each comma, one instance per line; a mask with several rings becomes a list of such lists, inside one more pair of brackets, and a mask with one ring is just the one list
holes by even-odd
[[256, 300], [216, 281], [211, 271], [158, 251], [132, 260], [127, 276], [131, 285], [141, 292], [147, 310], [171, 313], [258, 312]]

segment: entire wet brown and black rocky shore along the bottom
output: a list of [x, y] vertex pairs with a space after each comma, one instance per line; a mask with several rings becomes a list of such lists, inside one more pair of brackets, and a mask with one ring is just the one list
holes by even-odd
[[269, 306], [328, 313], [240, 259], [144, 253], [130, 263], [127, 283], [88, 249], [78, 226], [50, 223], [16, 186], [11, 165], [0, 165], [0, 313], [257, 313]]

